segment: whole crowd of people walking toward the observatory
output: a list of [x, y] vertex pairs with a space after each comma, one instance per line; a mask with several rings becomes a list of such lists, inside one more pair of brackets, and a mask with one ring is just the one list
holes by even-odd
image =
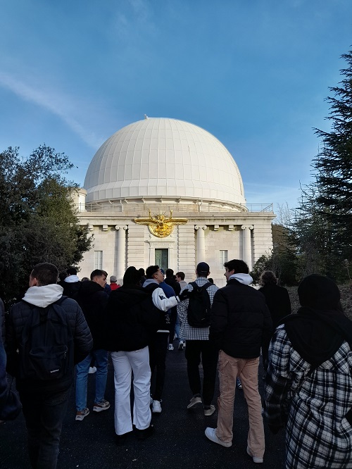
[[[75, 268], [59, 276], [55, 265], [40, 263], [25, 296], [6, 315], [6, 327], [0, 301], [0, 420], [15, 418], [22, 408], [32, 468], [56, 468], [73, 385], [75, 420], [87, 418], [89, 407], [111, 407], [105, 399], [109, 354], [116, 444], [125, 444], [131, 432], [139, 440], [151, 437], [151, 414], [162, 412], [174, 337], [187, 360], [187, 408], [201, 408], [205, 418], [218, 411], [217, 426], [205, 431], [211, 442], [232, 446], [240, 387], [249, 415], [246, 451], [254, 463], [263, 463], [264, 417], [272, 434], [286, 429], [286, 468], [352, 467], [352, 323], [337, 285], [309, 275], [298, 287], [301, 308], [291, 312], [287, 289], [274, 273], [265, 271], [256, 289], [244, 261], [233, 259], [224, 267], [227, 284], [218, 288], [206, 262], [196, 265], [193, 282], [171, 269], [164, 275], [158, 265], [145, 271], [130, 266], [122, 285], [114, 275], [108, 284], [104, 270], [80, 280]], [[8, 386], [6, 370], [18, 394]], [[88, 403], [92, 370], [95, 396]]]

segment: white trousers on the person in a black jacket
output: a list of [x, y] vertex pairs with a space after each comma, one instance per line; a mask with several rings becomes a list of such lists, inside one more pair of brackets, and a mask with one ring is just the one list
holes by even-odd
[[131, 380], [133, 371], [133, 425], [145, 430], [151, 423], [150, 390], [151, 369], [149, 349], [111, 352], [115, 382], [115, 432], [132, 431]]

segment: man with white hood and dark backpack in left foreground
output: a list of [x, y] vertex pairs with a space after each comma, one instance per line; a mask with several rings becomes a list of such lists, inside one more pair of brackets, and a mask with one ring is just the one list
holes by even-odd
[[6, 322], [7, 371], [16, 378], [32, 468], [56, 468], [74, 365], [93, 346], [80, 306], [57, 280], [55, 265], [35, 265]]

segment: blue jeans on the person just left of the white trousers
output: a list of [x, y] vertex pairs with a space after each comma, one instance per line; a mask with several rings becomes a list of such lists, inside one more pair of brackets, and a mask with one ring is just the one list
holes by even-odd
[[76, 409], [82, 411], [87, 407], [87, 382], [89, 366], [95, 359], [96, 373], [95, 376], [95, 399], [94, 404], [98, 404], [104, 399], [106, 379], [108, 377], [108, 352], [103, 349], [92, 350], [84, 360], [77, 363], [76, 377]]

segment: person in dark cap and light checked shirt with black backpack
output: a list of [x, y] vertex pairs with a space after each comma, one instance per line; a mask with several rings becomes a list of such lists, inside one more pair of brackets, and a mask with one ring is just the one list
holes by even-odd
[[[210, 309], [218, 287], [208, 282], [209, 265], [200, 262], [196, 267], [196, 281], [185, 287], [189, 291], [189, 299], [177, 304], [177, 313], [182, 322], [181, 337], [187, 341], [186, 359], [189, 387], [193, 394], [188, 409], [201, 406], [204, 415], [213, 415], [216, 366], [218, 351], [209, 342]], [[183, 289], [181, 291], [181, 294]], [[201, 377], [199, 365], [203, 365], [203, 401], [201, 396]]]

